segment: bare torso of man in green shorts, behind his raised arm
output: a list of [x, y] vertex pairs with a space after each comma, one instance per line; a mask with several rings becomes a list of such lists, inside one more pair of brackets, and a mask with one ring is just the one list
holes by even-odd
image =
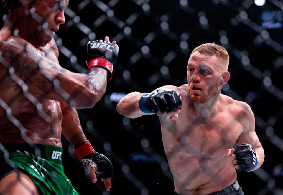
[[[2, 41], [14, 40], [7, 32], [9, 31], [0, 31], [0, 44]], [[25, 40], [22, 39], [21, 41]], [[17, 39], [14, 40], [14, 43], [17, 44]], [[57, 59], [58, 48], [54, 39], [45, 47], [38, 49], [36, 55], [41, 55], [59, 65]], [[21, 63], [21, 59], [19, 58], [20, 57], [18, 57], [17, 61]], [[28, 66], [25, 68], [28, 68]], [[62, 112], [60, 103], [58, 101], [35, 96], [42, 105], [42, 110], [39, 113], [40, 106], [36, 107], [34, 103], [28, 99], [31, 97], [23, 95], [22, 88], [11, 78], [11, 75], [8, 74], [8, 70], [1, 63], [0, 79], [0, 142], [31, 142], [61, 147]], [[12, 117], [7, 117], [7, 111], [9, 111], [9, 109], [3, 109], [2, 106], [5, 104], [4, 102], [11, 110], [11, 113], [8, 113], [8, 115]], [[18, 127], [23, 125], [25, 128], [24, 131], [26, 131], [23, 131], [23, 135], [21, 135], [15, 123]]]

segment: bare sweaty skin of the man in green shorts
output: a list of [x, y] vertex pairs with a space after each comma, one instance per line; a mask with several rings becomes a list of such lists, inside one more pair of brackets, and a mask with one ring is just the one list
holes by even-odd
[[[37, 16], [48, 24], [45, 31], [26, 14], [31, 2]], [[19, 3], [9, 11], [0, 30], [0, 142], [62, 147], [62, 133], [75, 146], [86, 140], [75, 108], [93, 107], [103, 97], [107, 71], [93, 67], [88, 74], [81, 74], [60, 67], [52, 36], [65, 22], [64, 10], [69, 0], [25, 3], [28, 4]], [[17, 35], [14, 29], [18, 29]], [[91, 169], [89, 174], [95, 183], [95, 170]], [[17, 181], [15, 172], [1, 179], [0, 192], [4, 190], [1, 186], [11, 184], [14, 187], [5, 193], [29, 194], [32, 191], [26, 193], [24, 188], [36, 189], [29, 177], [22, 175], [22, 180]], [[109, 191], [111, 178], [102, 181]]]

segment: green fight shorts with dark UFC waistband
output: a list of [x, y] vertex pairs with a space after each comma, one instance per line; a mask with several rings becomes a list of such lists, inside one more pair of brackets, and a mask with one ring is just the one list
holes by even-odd
[[39, 194], [78, 194], [64, 174], [63, 148], [41, 144], [1, 144], [0, 180], [11, 172], [20, 171], [34, 182]]

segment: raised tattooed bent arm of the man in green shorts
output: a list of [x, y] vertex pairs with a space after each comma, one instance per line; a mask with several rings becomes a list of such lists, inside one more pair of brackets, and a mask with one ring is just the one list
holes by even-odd
[[34, 46], [20, 38], [1, 43], [0, 51], [0, 64], [6, 68], [12, 66], [35, 97], [65, 104], [73, 99], [73, 107], [84, 108], [93, 107], [105, 93], [107, 71], [103, 68], [93, 67], [88, 74], [70, 72], [43, 57]]

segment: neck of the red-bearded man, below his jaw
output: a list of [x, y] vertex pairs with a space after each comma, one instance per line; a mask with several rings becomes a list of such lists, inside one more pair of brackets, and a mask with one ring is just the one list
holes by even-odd
[[211, 97], [207, 102], [200, 104], [192, 102], [195, 113], [202, 119], [204, 122], [208, 122], [211, 117], [217, 114], [217, 103], [220, 98], [220, 92]]

